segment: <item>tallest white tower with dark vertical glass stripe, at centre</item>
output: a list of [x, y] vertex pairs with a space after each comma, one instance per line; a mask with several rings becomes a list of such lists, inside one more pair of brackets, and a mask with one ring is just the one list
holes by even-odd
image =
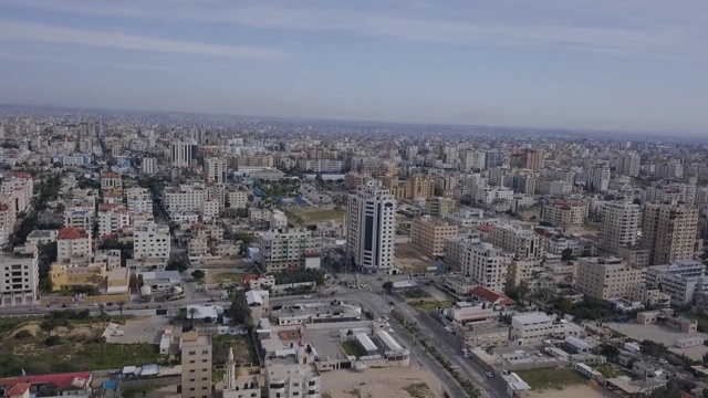
[[363, 272], [394, 269], [396, 199], [377, 180], [368, 180], [350, 195], [347, 253]]

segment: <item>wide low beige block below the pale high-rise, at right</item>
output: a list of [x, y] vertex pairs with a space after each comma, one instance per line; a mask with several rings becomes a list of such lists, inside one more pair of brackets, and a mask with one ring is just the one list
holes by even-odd
[[618, 258], [579, 259], [575, 290], [598, 300], [626, 297], [644, 284], [645, 271]]

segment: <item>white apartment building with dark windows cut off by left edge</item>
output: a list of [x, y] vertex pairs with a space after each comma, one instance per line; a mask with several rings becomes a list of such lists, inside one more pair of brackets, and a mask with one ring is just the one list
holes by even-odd
[[37, 245], [27, 245], [23, 253], [0, 253], [0, 307], [37, 304], [39, 282]]

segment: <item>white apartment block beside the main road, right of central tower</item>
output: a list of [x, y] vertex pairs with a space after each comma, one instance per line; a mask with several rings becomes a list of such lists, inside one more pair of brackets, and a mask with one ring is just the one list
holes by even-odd
[[467, 243], [462, 258], [462, 272], [473, 284], [494, 292], [503, 292], [511, 255], [491, 243]]

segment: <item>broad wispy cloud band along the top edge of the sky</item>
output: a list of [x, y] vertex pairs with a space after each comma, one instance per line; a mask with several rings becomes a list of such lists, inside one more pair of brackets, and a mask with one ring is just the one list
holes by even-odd
[[[702, 28], [705, 17], [700, 17], [701, 12], [688, 12], [686, 9], [690, 7], [667, 8], [658, 0], [627, 0], [622, 7], [615, 0], [577, 1], [572, 4], [549, 1], [553, 7], [543, 2], [519, 0], [511, 3], [509, 0], [498, 0], [431, 9], [405, 7], [400, 0], [382, 0], [379, 8], [387, 8], [387, 12], [372, 7], [366, 10], [332, 8], [330, 2], [310, 8], [273, 2], [269, 2], [270, 6], [241, 7], [232, 1], [220, 0], [22, 0], [19, 4], [10, 3], [107, 18], [191, 21], [311, 32], [340, 31], [449, 45], [546, 45], [594, 52], [606, 50], [606, 54], [625, 56], [705, 56], [706, 49], [701, 40], [706, 35]], [[419, 3], [425, 6], [429, 1], [421, 0]], [[700, 3], [695, 4], [701, 8]]]

